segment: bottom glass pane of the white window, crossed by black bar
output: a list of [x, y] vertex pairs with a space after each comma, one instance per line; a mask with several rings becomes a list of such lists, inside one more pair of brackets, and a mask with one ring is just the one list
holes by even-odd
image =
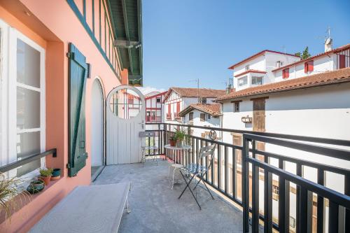
[[[17, 134], [16, 139], [17, 159], [24, 159], [29, 155], [40, 153], [40, 132]], [[17, 169], [17, 176], [22, 176], [40, 167], [40, 159], [25, 164]]]

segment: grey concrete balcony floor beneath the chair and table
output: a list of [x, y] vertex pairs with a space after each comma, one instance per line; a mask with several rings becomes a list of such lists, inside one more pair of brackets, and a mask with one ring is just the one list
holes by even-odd
[[[200, 210], [186, 190], [185, 183], [174, 185], [167, 178], [169, 162], [158, 159], [142, 164], [106, 166], [94, 185], [132, 183], [129, 195], [131, 213], [126, 211], [119, 232], [241, 232], [242, 213], [214, 194], [214, 200], [202, 188], [197, 191]], [[179, 178], [180, 178], [179, 174]], [[182, 179], [182, 178], [181, 178]]]

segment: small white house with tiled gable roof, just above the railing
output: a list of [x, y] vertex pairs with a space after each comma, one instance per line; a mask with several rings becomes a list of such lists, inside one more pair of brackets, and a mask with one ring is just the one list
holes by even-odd
[[[221, 104], [190, 104], [179, 113], [183, 124], [203, 127], [221, 127]], [[192, 128], [190, 134], [209, 139], [210, 129]], [[221, 132], [216, 132], [216, 140], [221, 140]]]

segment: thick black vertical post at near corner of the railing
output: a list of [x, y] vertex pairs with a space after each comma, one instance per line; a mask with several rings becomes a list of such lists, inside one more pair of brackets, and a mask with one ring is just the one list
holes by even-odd
[[243, 134], [242, 148], [242, 205], [243, 205], [243, 232], [249, 232], [249, 142]]

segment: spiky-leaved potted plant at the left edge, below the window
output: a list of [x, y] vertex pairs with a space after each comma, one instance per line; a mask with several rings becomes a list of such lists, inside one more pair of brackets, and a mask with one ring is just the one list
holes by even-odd
[[20, 208], [23, 198], [30, 198], [28, 192], [18, 188], [18, 183], [22, 183], [20, 178], [6, 178], [0, 174], [0, 212], [4, 211], [5, 218]]

